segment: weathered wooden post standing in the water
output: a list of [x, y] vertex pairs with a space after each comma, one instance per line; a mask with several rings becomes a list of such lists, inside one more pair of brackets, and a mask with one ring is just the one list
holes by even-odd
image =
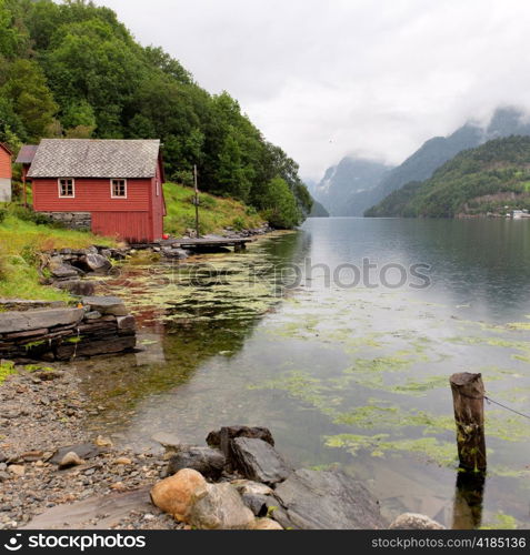
[[451, 384], [457, 423], [457, 444], [460, 466], [486, 471], [484, 384], [482, 374], [453, 374]]

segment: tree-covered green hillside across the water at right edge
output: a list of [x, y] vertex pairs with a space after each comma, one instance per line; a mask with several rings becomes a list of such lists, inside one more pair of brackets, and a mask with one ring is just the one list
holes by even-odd
[[411, 182], [367, 216], [454, 218], [530, 209], [530, 137], [489, 141], [461, 152], [431, 179]]

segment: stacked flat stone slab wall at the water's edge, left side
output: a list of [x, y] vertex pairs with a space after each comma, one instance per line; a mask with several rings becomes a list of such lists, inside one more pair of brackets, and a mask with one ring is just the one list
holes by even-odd
[[0, 313], [0, 359], [68, 361], [134, 346], [134, 317], [112, 296], [84, 297], [78, 307]]

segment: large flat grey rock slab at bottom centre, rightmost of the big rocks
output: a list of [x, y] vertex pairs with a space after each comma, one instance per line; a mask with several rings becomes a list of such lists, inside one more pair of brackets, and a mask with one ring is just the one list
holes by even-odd
[[284, 528], [379, 529], [387, 525], [378, 501], [341, 471], [296, 471], [274, 494], [282, 506], [272, 517]]

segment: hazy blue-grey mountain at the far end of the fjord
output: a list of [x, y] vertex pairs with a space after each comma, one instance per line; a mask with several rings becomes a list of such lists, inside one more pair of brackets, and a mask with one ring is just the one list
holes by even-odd
[[380, 162], [346, 157], [337, 165], [328, 168], [312, 193], [330, 214], [347, 215], [344, 199], [373, 189], [390, 170], [391, 167]]

